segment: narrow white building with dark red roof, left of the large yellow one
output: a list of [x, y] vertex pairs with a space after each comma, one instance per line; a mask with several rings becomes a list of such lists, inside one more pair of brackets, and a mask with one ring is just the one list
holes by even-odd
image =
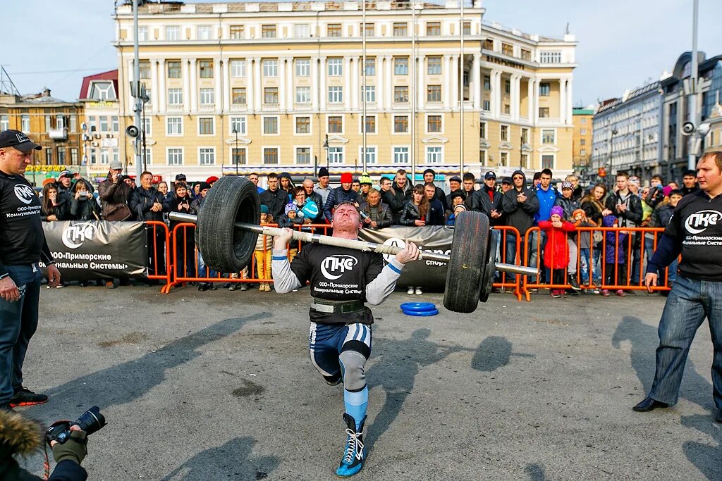
[[[110, 162], [120, 160], [121, 136], [118, 112], [118, 71], [111, 70], [83, 77], [79, 102], [84, 105], [80, 125], [83, 164], [87, 175], [99, 180], [108, 175]], [[129, 157], [134, 162], [134, 157]]]

